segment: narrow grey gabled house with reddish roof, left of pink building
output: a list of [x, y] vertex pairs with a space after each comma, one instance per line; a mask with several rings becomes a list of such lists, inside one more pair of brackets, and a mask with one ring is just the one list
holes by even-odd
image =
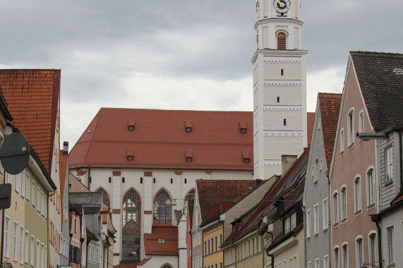
[[[306, 267], [331, 267], [330, 183], [341, 94], [319, 93], [303, 192]], [[337, 267], [337, 266], [336, 266]]]

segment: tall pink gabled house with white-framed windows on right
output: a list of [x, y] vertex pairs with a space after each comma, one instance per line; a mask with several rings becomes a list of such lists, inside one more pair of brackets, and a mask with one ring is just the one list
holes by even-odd
[[[372, 133], [366, 90], [366, 52], [351, 52], [330, 166], [332, 200], [332, 267], [362, 267], [378, 260], [378, 233], [371, 214], [377, 213], [375, 140], [359, 140], [356, 133]], [[375, 264], [377, 265], [377, 264]]]

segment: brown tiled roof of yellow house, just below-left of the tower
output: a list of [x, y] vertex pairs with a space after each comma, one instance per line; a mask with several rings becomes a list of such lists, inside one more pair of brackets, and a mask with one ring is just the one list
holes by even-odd
[[209, 209], [222, 202], [234, 202], [252, 188], [253, 180], [196, 180], [202, 223], [209, 221]]

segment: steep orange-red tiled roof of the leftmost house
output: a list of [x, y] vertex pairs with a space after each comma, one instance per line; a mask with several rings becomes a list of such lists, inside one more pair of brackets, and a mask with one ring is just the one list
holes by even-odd
[[0, 70], [0, 86], [13, 125], [51, 173], [60, 70]]

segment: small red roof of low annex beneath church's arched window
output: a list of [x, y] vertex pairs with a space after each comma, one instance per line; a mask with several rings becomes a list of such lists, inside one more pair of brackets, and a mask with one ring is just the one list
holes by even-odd
[[179, 255], [178, 227], [152, 226], [150, 234], [144, 235], [145, 255]]

